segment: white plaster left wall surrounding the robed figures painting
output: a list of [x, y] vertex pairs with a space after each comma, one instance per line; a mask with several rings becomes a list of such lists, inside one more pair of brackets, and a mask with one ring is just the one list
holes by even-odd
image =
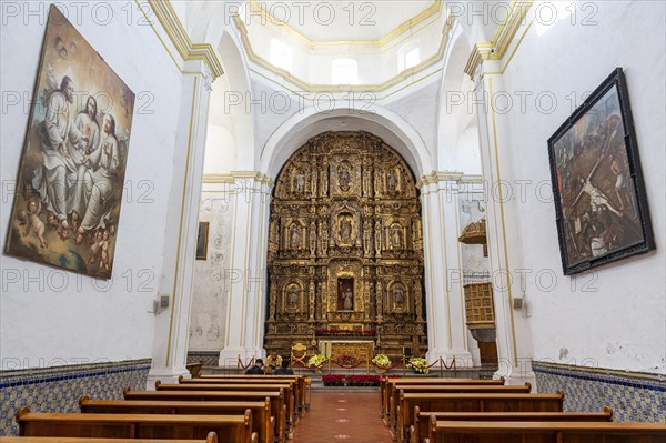
[[[31, 94], [44, 34], [47, 2], [16, 2], [18, 17], [4, 14], [0, 37], [1, 89]], [[151, 27], [139, 24], [134, 3], [107, 2], [111, 20], [92, 19], [90, 3], [70, 3], [77, 29], [137, 94], [124, 201], [109, 281], [1, 255], [0, 352], [2, 369], [120, 361], [151, 355], [162, 242], [180, 103], [180, 73]], [[128, 16], [128, 4], [132, 14]], [[26, 16], [30, 11], [43, 12]], [[80, 24], [77, 24], [79, 21]], [[105, 19], [104, 19], [105, 20]], [[11, 48], [11, 50], [7, 50]], [[140, 95], [143, 93], [142, 95]], [[149, 102], [150, 101], [150, 102]], [[8, 217], [28, 121], [23, 104], [3, 110], [0, 231]], [[140, 112], [143, 109], [144, 112]], [[2, 242], [4, 248], [4, 241]], [[11, 283], [9, 273], [21, 278]], [[34, 279], [34, 280], [32, 280]], [[63, 284], [64, 282], [64, 284]]]

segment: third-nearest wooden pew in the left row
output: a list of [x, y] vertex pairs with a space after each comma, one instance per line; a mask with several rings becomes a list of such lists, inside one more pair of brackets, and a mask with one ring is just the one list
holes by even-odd
[[236, 415], [252, 411], [252, 431], [259, 443], [273, 443], [275, 419], [271, 416], [271, 400], [263, 402], [178, 402], [147, 400], [90, 400], [79, 399], [82, 413], [95, 414], [180, 414], [180, 415]]

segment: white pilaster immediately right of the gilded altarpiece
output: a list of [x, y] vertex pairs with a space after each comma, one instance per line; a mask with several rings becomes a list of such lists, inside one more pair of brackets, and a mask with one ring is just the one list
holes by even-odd
[[457, 181], [461, 173], [434, 173], [420, 180], [428, 351], [456, 366], [471, 366], [467, 346], [462, 263], [457, 242]]

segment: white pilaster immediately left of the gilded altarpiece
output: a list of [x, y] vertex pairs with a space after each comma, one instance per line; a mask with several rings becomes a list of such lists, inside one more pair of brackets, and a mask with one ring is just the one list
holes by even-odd
[[265, 356], [266, 251], [272, 181], [254, 171], [232, 173], [235, 191], [229, 311], [221, 366]]

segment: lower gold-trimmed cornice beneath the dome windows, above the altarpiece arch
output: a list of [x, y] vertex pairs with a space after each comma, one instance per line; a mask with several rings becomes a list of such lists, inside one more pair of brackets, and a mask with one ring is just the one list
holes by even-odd
[[253, 49], [252, 43], [250, 42], [250, 38], [248, 37], [248, 28], [243, 20], [235, 14], [233, 17], [234, 24], [239, 31], [241, 42], [243, 43], [243, 48], [245, 49], [245, 53], [248, 54], [248, 59], [255, 63], [256, 66], [274, 73], [289, 81], [293, 85], [297, 87], [301, 91], [305, 92], [382, 92], [390, 88], [393, 88], [410, 77], [416, 75], [426, 69], [431, 68], [435, 63], [440, 62], [444, 53], [446, 52], [446, 48], [448, 47], [448, 42], [451, 40], [451, 31], [455, 24], [455, 17], [453, 14], [448, 14], [444, 27], [442, 28], [442, 40], [440, 41], [440, 47], [437, 48], [437, 52], [435, 52], [432, 57], [422, 61], [413, 68], [406, 69], [404, 71], [398, 72], [396, 75], [391, 79], [379, 83], [379, 84], [354, 84], [354, 85], [337, 85], [337, 84], [316, 84], [304, 81], [289, 71], [278, 68], [273, 66], [270, 61], [265, 60], [261, 56], [258, 56]]

